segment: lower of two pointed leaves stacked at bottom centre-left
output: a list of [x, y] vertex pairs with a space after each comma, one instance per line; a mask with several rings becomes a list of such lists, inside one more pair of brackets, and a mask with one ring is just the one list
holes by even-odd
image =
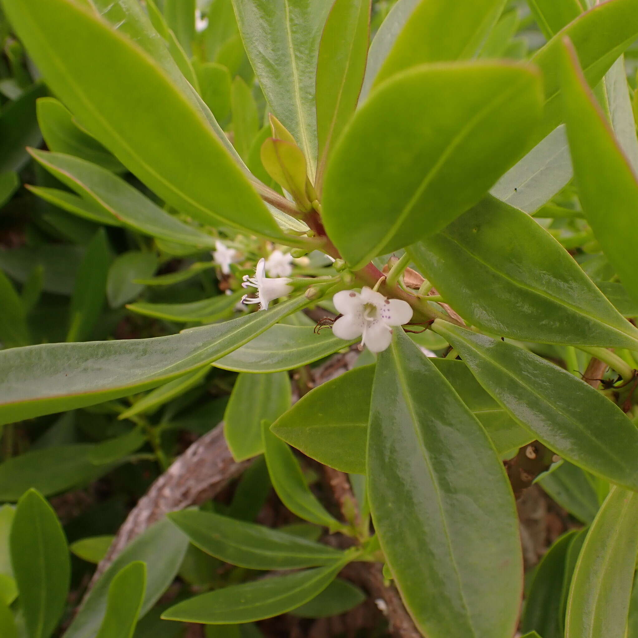
[[279, 616], [319, 595], [347, 562], [210, 591], [178, 603], [162, 618], [224, 625]]

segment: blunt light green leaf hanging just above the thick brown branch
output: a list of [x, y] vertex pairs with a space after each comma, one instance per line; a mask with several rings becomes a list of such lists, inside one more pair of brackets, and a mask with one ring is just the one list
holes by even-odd
[[291, 403], [285, 372], [237, 377], [224, 413], [224, 436], [235, 461], [262, 454], [262, 420], [272, 423]]

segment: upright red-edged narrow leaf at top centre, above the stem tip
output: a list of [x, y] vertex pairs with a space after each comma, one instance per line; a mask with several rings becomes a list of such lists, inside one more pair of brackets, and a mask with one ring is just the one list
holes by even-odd
[[337, 0], [323, 28], [316, 78], [319, 193], [330, 150], [357, 108], [366, 71], [370, 9], [371, 0]]

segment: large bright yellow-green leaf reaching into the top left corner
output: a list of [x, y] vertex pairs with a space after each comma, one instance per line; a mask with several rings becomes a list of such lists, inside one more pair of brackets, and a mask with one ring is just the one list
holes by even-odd
[[51, 89], [159, 197], [206, 223], [280, 235], [195, 98], [133, 40], [72, 0], [3, 6]]

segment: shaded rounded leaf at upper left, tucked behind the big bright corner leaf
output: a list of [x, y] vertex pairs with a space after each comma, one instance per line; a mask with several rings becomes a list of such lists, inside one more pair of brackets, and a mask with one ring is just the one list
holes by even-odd
[[100, 142], [75, 125], [73, 115], [58, 100], [40, 98], [37, 112], [42, 137], [49, 151], [73, 155], [115, 172], [125, 170]]

